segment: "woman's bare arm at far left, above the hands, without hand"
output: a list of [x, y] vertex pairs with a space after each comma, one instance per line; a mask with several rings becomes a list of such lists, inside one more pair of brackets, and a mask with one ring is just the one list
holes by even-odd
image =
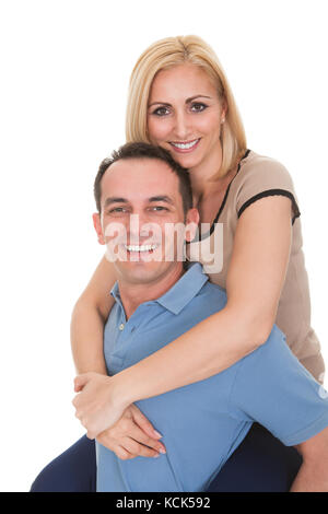
[[78, 373], [93, 371], [107, 375], [103, 332], [114, 305], [109, 291], [115, 280], [114, 265], [104, 256], [75, 303], [71, 319], [71, 347]]

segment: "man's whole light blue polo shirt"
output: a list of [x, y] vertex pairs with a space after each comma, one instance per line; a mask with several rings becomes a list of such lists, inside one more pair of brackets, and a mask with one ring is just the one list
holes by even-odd
[[[224, 290], [208, 280], [198, 262], [128, 320], [117, 283], [112, 294], [116, 303], [104, 334], [109, 375], [157, 351], [226, 303]], [[202, 491], [254, 421], [285, 445], [328, 427], [327, 393], [292, 354], [277, 326], [265, 344], [227, 370], [136, 405], [163, 434], [166, 454], [120, 460], [96, 443], [97, 491]]]

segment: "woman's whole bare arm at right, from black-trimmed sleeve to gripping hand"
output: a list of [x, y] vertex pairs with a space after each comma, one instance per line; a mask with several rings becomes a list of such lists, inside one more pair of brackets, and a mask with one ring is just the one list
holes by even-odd
[[245, 209], [229, 267], [226, 306], [101, 384], [94, 376], [75, 378], [85, 386], [78, 417], [86, 421], [89, 435], [115, 423], [128, 405], [209, 378], [262, 344], [276, 319], [291, 237], [289, 198], [266, 197]]

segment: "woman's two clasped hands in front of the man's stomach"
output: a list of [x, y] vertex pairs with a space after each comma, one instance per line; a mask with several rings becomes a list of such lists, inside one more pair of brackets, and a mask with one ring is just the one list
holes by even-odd
[[134, 404], [124, 407], [115, 401], [113, 377], [84, 373], [74, 379], [75, 417], [87, 430], [89, 439], [112, 449], [120, 459], [157, 457], [166, 453], [151, 422]]

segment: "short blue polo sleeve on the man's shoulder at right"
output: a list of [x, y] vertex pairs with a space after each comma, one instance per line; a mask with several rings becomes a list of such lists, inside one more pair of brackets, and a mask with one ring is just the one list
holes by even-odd
[[297, 361], [276, 325], [267, 342], [237, 364], [232, 417], [259, 422], [286, 446], [328, 427], [328, 393]]

